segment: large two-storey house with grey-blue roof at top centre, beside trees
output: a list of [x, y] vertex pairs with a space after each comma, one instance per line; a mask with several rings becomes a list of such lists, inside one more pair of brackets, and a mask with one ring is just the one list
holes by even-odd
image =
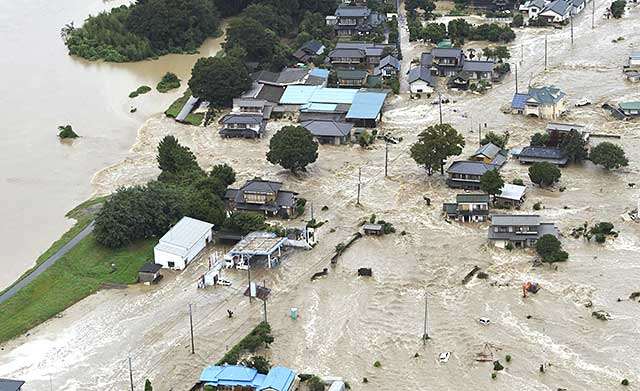
[[386, 19], [366, 6], [340, 5], [334, 15], [335, 19], [327, 19], [327, 24], [334, 26], [338, 37], [368, 35]]

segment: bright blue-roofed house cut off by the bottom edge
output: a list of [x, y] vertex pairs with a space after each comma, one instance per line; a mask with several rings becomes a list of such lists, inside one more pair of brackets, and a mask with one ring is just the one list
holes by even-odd
[[273, 367], [266, 375], [242, 365], [211, 365], [200, 374], [199, 385], [215, 387], [218, 391], [293, 391], [298, 378], [291, 369]]

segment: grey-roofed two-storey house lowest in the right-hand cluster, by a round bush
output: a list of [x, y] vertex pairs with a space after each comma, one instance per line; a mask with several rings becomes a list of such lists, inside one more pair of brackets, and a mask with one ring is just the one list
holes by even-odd
[[538, 215], [492, 215], [489, 240], [497, 247], [531, 247], [543, 235], [558, 237], [553, 223], [540, 222]]

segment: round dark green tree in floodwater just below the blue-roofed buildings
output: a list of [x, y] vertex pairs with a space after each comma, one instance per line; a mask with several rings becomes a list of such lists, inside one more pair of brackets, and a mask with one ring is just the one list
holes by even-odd
[[269, 142], [267, 160], [279, 164], [294, 174], [306, 171], [307, 165], [318, 159], [318, 143], [302, 126], [285, 126]]

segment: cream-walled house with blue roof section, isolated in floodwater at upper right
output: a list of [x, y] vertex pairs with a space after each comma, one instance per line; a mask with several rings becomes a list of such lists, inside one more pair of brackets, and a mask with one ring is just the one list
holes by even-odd
[[514, 94], [511, 109], [517, 114], [556, 119], [567, 111], [566, 94], [555, 86], [529, 87], [526, 94]]

